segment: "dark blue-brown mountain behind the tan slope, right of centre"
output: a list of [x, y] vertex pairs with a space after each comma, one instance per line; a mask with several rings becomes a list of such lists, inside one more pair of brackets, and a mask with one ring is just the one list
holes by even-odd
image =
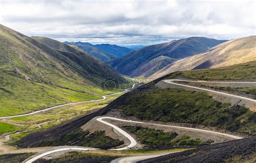
[[175, 60], [205, 52], [226, 41], [205, 37], [173, 40], [168, 43], [143, 47], [106, 63], [127, 76], [149, 77]]

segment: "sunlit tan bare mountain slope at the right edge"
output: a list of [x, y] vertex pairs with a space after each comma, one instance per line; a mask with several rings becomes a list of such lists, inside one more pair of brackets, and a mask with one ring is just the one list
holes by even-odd
[[152, 74], [159, 78], [175, 71], [224, 67], [256, 60], [256, 36], [238, 38], [198, 55], [177, 60]]

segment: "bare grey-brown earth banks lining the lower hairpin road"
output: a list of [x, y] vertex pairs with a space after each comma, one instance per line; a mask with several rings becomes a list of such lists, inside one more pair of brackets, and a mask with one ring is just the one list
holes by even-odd
[[[247, 134], [237, 133], [237, 132], [230, 132], [230, 131], [226, 131], [222, 128], [211, 127], [211, 126], [206, 126], [206, 125], [185, 124], [185, 123], [165, 123], [163, 121], [141, 120], [141, 119], [137, 119], [135, 117], [125, 116], [122, 113], [122, 111], [120, 111], [120, 110], [111, 110], [110, 112], [105, 114], [105, 116], [127, 119], [127, 120], [131, 119], [131, 120], [134, 120], [134, 121], [142, 121], [142, 122], [145, 122], [145, 123], [156, 123], [156, 124], [161, 124], [161, 125], [173, 125], [173, 126], [181, 126], [181, 127], [199, 128], [199, 129], [208, 130], [208, 131], [228, 133], [228, 134], [237, 135], [237, 136], [240, 136], [240, 137], [248, 137]], [[106, 135], [113, 138], [113, 139], [124, 140], [124, 145], [130, 144], [130, 141], [128, 139], [126, 139], [122, 135], [119, 135], [118, 133], [114, 132], [112, 127], [104, 125], [104, 124], [100, 124], [96, 119], [97, 119], [97, 117], [93, 118], [88, 123], [83, 125], [81, 127], [82, 130], [89, 130], [92, 133], [96, 132], [96, 131], [105, 131]], [[187, 131], [187, 130], [183, 130], [183, 129], [180, 129], [180, 128], [156, 126], [156, 125], [150, 125], [150, 124], [134, 124], [134, 123], [129, 123], [129, 122], [127, 123], [127, 122], [124, 122], [124, 121], [116, 121], [116, 120], [111, 120], [111, 119], [106, 119], [105, 121], [107, 121], [107, 122], [109, 122], [113, 125], [116, 125], [120, 128], [123, 128], [124, 126], [142, 126], [142, 127], [154, 128], [156, 130], [164, 130], [165, 132], [176, 132], [176, 133], [179, 134], [177, 139], [180, 138], [182, 135], [190, 135], [190, 137], [193, 138], [193, 139], [199, 138], [199, 139], [204, 140], [204, 141], [207, 141], [208, 139], [211, 139], [215, 143], [233, 140], [232, 138], [227, 138], [227, 137], [221, 136], [221, 135], [215, 135], [215, 134], [210, 134], [210, 133], [201, 133], [201, 132], [197, 132], [197, 131]], [[134, 135], [132, 133], [129, 133], [129, 134], [131, 134], [133, 138], [137, 139], [136, 135]], [[141, 149], [143, 147], [144, 147], [144, 145], [142, 145], [142, 144], [139, 144], [137, 146], [138, 149]]]

